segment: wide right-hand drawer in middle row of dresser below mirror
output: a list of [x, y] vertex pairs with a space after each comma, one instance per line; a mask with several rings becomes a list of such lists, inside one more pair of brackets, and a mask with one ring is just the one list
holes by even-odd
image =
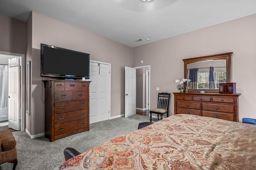
[[234, 113], [234, 106], [221, 104], [202, 104], [202, 110]]

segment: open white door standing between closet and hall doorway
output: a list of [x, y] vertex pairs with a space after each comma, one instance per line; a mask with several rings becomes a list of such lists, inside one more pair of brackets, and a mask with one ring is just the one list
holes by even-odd
[[124, 117], [129, 117], [136, 114], [136, 69], [124, 69]]

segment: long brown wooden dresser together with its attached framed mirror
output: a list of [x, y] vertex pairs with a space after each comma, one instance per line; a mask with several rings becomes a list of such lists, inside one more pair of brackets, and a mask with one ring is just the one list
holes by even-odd
[[193, 114], [229, 121], [239, 121], [237, 94], [220, 94], [219, 83], [231, 82], [231, 55], [183, 59], [188, 92], [174, 92], [174, 114]]

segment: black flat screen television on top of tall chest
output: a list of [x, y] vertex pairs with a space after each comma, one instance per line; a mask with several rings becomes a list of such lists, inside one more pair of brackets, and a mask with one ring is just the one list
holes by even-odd
[[90, 78], [90, 54], [41, 44], [41, 76]]

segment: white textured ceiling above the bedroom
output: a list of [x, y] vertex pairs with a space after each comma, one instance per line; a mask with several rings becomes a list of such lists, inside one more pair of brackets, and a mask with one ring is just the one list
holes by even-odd
[[[0, 14], [26, 21], [34, 11], [136, 47], [256, 14], [256, 0], [0, 0]], [[138, 39], [143, 41], [136, 42]]]

